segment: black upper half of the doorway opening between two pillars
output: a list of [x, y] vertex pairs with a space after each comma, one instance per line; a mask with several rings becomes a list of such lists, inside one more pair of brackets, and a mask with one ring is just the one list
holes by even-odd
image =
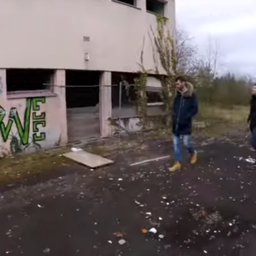
[[100, 102], [100, 71], [66, 70], [67, 108], [95, 107]]

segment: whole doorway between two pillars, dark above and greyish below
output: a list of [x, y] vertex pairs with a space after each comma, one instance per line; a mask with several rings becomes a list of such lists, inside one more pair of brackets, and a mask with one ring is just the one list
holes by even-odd
[[66, 70], [68, 141], [100, 137], [100, 71]]

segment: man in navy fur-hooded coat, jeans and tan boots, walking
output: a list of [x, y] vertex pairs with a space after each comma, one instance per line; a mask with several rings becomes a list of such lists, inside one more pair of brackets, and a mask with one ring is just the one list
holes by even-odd
[[175, 163], [169, 171], [181, 169], [181, 141], [191, 155], [191, 164], [196, 164], [198, 159], [196, 149], [191, 140], [192, 120], [198, 113], [198, 101], [194, 93], [193, 85], [186, 81], [186, 78], [179, 76], [176, 78], [176, 97], [172, 111], [172, 129], [174, 141]]

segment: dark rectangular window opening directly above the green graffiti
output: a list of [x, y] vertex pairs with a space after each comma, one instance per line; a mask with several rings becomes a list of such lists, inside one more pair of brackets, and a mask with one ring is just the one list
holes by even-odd
[[7, 69], [7, 92], [50, 90], [54, 70], [44, 69]]

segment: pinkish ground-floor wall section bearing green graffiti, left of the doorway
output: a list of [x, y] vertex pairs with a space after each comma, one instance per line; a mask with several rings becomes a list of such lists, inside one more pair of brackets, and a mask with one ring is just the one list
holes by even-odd
[[0, 70], [0, 156], [65, 144], [65, 70], [56, 70], [53, 92], [6, 94], [6, 70]]

